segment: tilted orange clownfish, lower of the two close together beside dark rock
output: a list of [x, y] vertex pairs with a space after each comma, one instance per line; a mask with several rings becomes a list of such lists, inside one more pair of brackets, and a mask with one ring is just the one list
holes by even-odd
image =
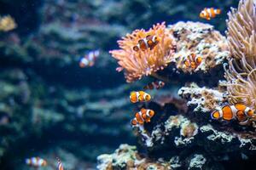
[[144, 122], [150, 122], [150, 119], [154, 116], [154, 111], [142, 108], [141, 111], [135, 114], [135, 117], [131, 120], [131, 125], [143, 125]]

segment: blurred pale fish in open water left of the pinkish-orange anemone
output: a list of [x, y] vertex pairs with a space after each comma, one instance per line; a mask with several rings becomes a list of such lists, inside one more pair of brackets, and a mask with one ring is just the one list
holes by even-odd
[[95, 65], [96, 58], [100, 55], [99, 50], [90, 51], [88, 54], [85, 54], [79, 61], [79, 66], [81, 68], [90, 67]]

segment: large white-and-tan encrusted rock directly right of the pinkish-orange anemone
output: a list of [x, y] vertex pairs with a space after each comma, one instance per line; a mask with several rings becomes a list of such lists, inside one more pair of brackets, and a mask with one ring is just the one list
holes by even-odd
[[[177, 50], [172, 62], [176, 63], [177, 69], [184, 72], [207, 72], [221, 65], [230, 54], [225, 38], [218, 31], [213, 30], [211, 25], [188, 21], [177, 22], [168, 28], [177, 41]], [[196, 54], [202, 58], [201, 64], [195, 70], [183, 64], [189, 54]]]

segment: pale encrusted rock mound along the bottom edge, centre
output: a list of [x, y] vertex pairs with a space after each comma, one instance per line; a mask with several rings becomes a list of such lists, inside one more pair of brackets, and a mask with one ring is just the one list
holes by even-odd
[[97, 157], [99, 170], [112, 169], [137, 169], [137, 170], [171, 170], [169, 162], [151, 161], [147, 157], [137, 153], [137, 147], [128, 144], [120, 144], [119, 149], [113, 154], [103, 154]]

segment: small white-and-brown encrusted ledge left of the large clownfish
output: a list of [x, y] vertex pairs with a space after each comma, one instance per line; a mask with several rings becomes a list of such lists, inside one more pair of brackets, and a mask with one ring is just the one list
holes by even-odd
[[189, 99], [187, 105], [194, 106], [195, 112], [214, 111], [226, 101], [223, 92], [212, 88], [200, 88], [195, 83], [191, 83], [189, 87], [180, 88], [177, 94], [184, 99]]

